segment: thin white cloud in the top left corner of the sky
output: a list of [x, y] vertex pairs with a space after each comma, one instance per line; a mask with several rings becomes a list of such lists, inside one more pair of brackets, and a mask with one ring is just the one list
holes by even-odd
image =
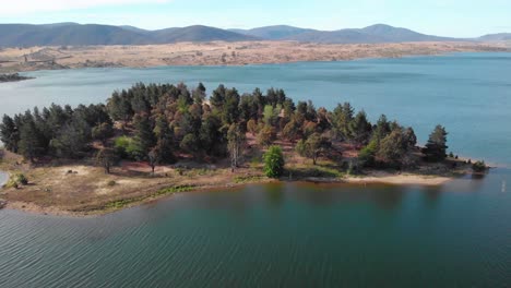
[[[116, 7], [127, 4], [168, 3], [173, 0], [14, 0], [2, 5], [0, 15], [26, 14], [35, 12], [60, 12], [97, 7]], [[0, 1], [0, 3], [3, 2]]]

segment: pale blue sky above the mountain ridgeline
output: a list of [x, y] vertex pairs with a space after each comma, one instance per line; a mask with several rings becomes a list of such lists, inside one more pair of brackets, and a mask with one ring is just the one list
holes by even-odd
[[0, 23], [325, 31], [383, 23], [452, 37], [511, 32], [511, 0], [0, 0]]

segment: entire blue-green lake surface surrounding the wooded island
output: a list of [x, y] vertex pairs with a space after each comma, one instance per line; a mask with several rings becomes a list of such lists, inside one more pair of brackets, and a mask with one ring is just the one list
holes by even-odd
[[86, 69], [0, 85], [0, 113], [98, 103], [133, 82], [282, 87], [349, 100], [498, 164], [439, 188], [252, 185], [96, 218], [0, 211], [1, 287], [511, 286], [511, 55], [248, 67]]

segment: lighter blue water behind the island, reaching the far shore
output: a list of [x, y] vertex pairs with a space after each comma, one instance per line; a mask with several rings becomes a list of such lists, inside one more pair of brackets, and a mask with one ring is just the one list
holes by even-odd
[[416, 129], [421, 143], [437, 123], [460, 155], [510, 164], [511, 53], [366, 59], [247, 67], [82, 69], [28, 73], [37, 79], [0, 85], [0, 115], [50, 103], [100, 103], [135, 82], [202, 81], [240, 92], [281, 87], [296, 100], [332, 109], [350, 101], [375, 121], [380, 113]]

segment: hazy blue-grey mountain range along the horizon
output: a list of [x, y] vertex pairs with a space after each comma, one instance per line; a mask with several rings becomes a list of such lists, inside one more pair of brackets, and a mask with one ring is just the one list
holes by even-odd
[[479, 38], [450, 38], [420, 34], [384, 24], [365, 28], [317, 31], [286, 25], [253, 29], [221, 29], [203, 25], [147, 31], [134, 26], [99, 24], [0, 24], [0, 47], [148, 45], [181, 41], [250, 41], [296, 40], [322, 44], [376, 44], [404, 41], [500, 41], [511, 40], [511, 34], [485, 35]]

